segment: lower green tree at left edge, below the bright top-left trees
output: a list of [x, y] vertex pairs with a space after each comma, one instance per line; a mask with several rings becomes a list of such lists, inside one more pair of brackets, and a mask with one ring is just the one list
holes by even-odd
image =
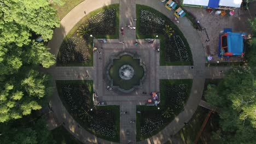
[[0, 122], [8, 122], [39, 110], [50, 95], [49, 76], [21, 69], [0, 81]]

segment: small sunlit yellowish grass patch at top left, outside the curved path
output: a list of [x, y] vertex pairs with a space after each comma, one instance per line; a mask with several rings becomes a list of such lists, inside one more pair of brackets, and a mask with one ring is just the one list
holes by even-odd
[[59, 19], [61, 20], [63, 17], [65, 17], [65, 15], [71, 11], [75, 6], [77, 6], [79, 3], [85, 1], [85, 0], [61, 0], [62, 2], [64, 2], [63, 5], [57, 5], [55, 4], [54, 7], [57, 10], [57, 15], [59, 17]]

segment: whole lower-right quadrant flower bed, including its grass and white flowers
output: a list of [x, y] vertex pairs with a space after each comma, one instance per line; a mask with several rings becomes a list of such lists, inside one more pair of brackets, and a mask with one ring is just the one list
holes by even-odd
[[[137, 140], [144, 140], [157, 134], [185, 105], [192, 80], [160, 80], [160, 109], [152, 106], [137, 106]], [[169, 111], [168, 111], [169, 110]], [[168, 117], [164, 115], [168, 111]]]

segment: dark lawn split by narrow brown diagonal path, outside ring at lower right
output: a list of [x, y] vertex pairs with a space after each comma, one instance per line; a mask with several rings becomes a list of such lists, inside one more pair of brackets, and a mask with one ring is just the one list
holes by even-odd
[[[200, 131], [203, 121], [208, 114], [209, 110], [204, 107], [197, 107], [193, 117], [188, 122], [188, 125], [185, 125], [176, 135], [177, 139], [181, 139], [184, 143], [194, 143], [197, 133]], [[201, 139], [198, 143], [218, 143], [211, 140], [212, 131], [216, 131], [219, 127], [218, 125], [219, 116], [217, 113], [212, 113], [209, 118], [205, 129], [201, 134]]]

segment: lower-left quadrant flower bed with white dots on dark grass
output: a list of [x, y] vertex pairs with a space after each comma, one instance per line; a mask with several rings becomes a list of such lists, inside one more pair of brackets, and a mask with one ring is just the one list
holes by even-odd
[[119, 108], [94, 106], [92, 81], [57, 81], [56, 86], [63, 105], [83, 128], [104, 139], [119, 141]]

